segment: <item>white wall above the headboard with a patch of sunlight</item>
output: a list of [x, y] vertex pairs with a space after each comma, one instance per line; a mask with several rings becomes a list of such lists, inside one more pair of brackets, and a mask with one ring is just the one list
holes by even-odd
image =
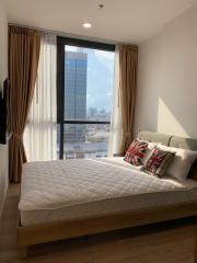
[[136, 132], [197, 138], [197, 8], [139, 47]]

